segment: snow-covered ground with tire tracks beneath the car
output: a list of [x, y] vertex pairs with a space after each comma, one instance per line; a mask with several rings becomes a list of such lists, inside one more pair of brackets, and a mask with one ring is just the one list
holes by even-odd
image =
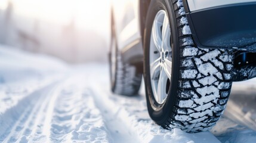
[[137, 97], [110, 92], [107, 64], [70, 66], [0, 46], [0, 142], [255, 142], [256, 79], [234, 83], [210, 132], [165, 130]]

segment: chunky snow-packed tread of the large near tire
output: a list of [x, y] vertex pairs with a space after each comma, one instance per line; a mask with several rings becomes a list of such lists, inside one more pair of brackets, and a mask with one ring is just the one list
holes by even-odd
[[[191, 33], [183, 33], [183, 28], [188, 23], [181, 21], [186, 20], [186, 15], [180, 2], [182, 0], [172, 0], [180, 45], [179, 86], [171, 117], [162, 126], [166, 129], [180, 128], [186, 132], [200, 132], [211, 129], [226, 107], [232, 86], [233, 52], [230, 49], [201, 49], [195, 46]], [[209, 52], [212, 58], [205, 60]], [[228, 57], [225, 60], [224, 55]], [[203, 69], [206, 65], [216, 72]], [[188, 72], [190, 76], [185, 77]], [[203, 79], [213, 81], [203, 83]], [[203, 90], [215, 92], [205, 93]]]

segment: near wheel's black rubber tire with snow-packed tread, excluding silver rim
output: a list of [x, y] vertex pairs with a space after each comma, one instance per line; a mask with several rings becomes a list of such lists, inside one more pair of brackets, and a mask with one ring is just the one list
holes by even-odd
[[[182, 0], [169, 3], [157, 0], [149, 6], [148, 15], [151, 17], [161, 10], [168, 13], [171, 42], [174, 45], [168, 97], [163, 104], [158, 104], [149, 76], [150, 30], [145, 34], [144, 79], [149, 114], [166, 129], [180, 128], [186, 132], [209, 130], [223, 114], [229, 98], [233, 79], [233, 51], [198, 48], [193, 42]], [[148, 29], [152, 27], [152, 21], [147, 16]]]

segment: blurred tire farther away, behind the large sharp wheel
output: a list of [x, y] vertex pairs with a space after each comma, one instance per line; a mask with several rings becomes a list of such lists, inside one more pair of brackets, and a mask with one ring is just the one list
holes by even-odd
[[122, 54], [117, 47], [115, 29], [113, 29], [113, 26], [109, 65], [112, 92], [127, 96], [138, 95], [142, 71], [139, 71], [136, 64], [129, 64], [122, 61]]

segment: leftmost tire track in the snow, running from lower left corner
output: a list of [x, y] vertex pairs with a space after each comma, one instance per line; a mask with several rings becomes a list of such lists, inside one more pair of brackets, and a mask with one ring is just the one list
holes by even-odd
[[29, 136], [31, 129], [36, 126], [34, 122], [38, 118], [38, 110], [41, 108], [42, 101], [44, 101], [42, 95], [47, 95], [47, 92], [51, 91], [54, 85], [55, 83], [51, 83], [44, 88], [37, 89], [23, 98], [15, 107], [1, 115], [2, 123], [5, 123], [1, 126], [1, 130], [4, 130], [5, 133], [1, 133], [0, 141], [26, 142], [26, 136]]

